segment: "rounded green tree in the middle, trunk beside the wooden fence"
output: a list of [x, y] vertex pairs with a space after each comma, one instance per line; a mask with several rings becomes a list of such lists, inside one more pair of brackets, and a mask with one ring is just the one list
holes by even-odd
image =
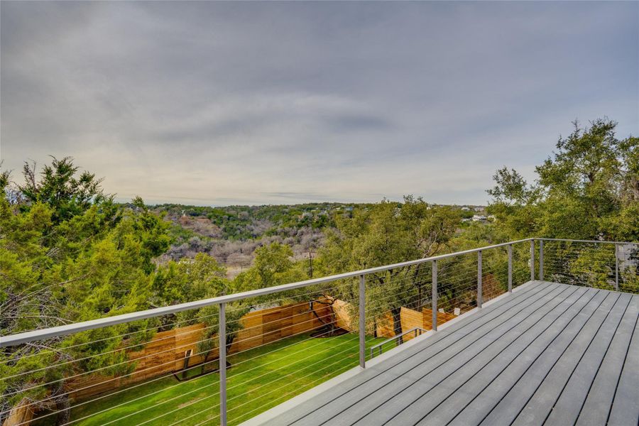
[[[403, 203], [384, 200], [371, 209], [356, 210], [352, 219], [338, 219], [337, 230], [329, 232], [320, 249], [317, 265], [324, 273], [342, 273], [432, 256], [446, 249], [460, 222], [454, 209], [420, 198], [407, 196]], [[371, 316], [391, 312], [395, 334], [400, 334], [401, 307], [421, 308], [430, 299], [424, 278], [429, 268], [430, 264], [420, 264], [368, 275]], [[349, 297], [355, 293], [353, 288], [346, 291]]]

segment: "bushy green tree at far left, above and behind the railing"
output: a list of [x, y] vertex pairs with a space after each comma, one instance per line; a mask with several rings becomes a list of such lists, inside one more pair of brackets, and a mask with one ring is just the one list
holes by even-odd
[[[26, 166], [24, 185], [2, 174], [3, 335], [149, 307], [152, 258], [168, 247], [167, 224], [141, 209], [141, 200], [133, 209], [116, 207], [94, 175], [75, 178], [76, 170], [70, 158], [54, 158], [40, 179]], [[142, 320], [3, 349], [1, 410], [28, 398], [35, 408], [57, 407], [58, 423], [67, 422], [65, 378], [130, 372], [121, 343], [148, 341], [154, 325]]]

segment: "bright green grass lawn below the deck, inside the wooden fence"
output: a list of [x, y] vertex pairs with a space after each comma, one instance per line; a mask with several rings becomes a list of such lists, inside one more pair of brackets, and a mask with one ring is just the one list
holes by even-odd
[[[371, 346], [383, 339], [370, 339]], [[227, 371], [229, 425], [236, 425], [283, 403], [359, 364], [357, 334], [283, 339], [241, 354], [231, 354]], [[391, 349], [386, 345], [385, 350]], [[200, 372], [196, 367], [195, 371]], [[74, 425], [215, 425], [219, 422], [219, 375], [188, 381], [173, 376], [141, 386], [79, 401], [71, 411]], [[45, 421], [46, 420], [46, 421]], [[35, 424], [53, 424], [54, 416]]]

